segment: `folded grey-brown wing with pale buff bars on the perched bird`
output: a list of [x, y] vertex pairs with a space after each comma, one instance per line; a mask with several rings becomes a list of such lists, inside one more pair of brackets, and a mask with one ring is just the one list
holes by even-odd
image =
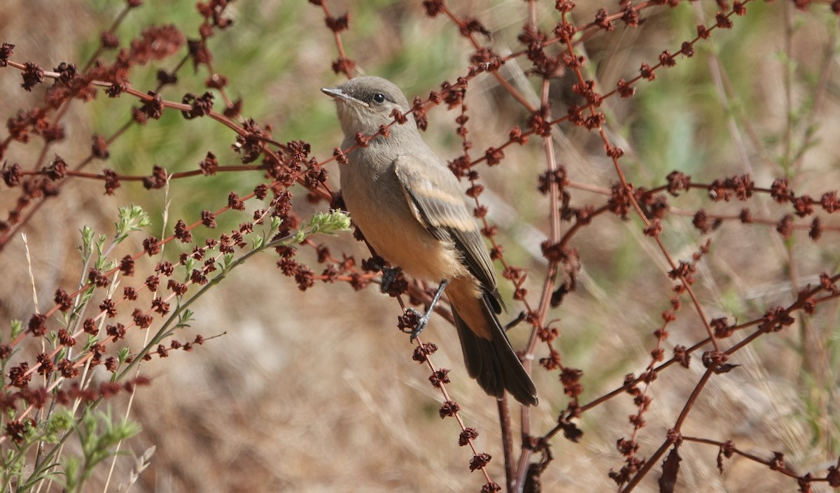
[[[402, 155], [394, 161], [396, 177], [412, 205], [412, 213], [438, 240], [454, 243], [470, 273], [501, 304], [487, 246], [464, 203], [458, 181], [437, 156], [428, 155], [434, 163], [421, 163], [421, 158], [426, 156]], [[501, 311], [501, 307], [494, 308]]]

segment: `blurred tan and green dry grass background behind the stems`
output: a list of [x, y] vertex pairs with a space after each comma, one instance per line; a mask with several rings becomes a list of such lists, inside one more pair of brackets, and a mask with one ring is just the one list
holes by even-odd
[[[425, 96], [441, 81], [465, 73], [470, 54], [466, 41], [446, 19], [426, 17], [422, 5], [385, 0], [329, 5], [334, 13], [348, 9], [351, 14], [349, 32], [343, 37], [349, 56], [366, 73], [395, 80], [409, 99]], [[580, 23], [592, 18], [600, 7], [600, 3], [581, 2], [575, 19]], [[92, 52], [98, 31], [111, 22], [118, 8], [118, 3], [103, 0], [65, 3], [61, 8], [49, 2], [6, 3], [0, 12], [0, 42], [17, 45], [16, 60], [33, 60], [45, 67], [63, 60], [81, 63]], [[480, 18], [493, 32], [494, 46], [501, 54], [520, 49], [515, 36], [527, 22], [525, 3], [470, 1], [452, 8]], [[547, 26], [557, 19], [552, 8], [549, 3], [538, 3]], [[791, 92], [801, 111], [796, 117], [813, 115], [816, 138], [801, 164], [787, 173], [800, 194], [819, 196], [837, 189], [837, 18], [822, 5], [811, 6], [808, 13], [785, 2], [751, 3], [749, 8], [748, 16], [735, 19], [735, 29], [718, 31], [709, 42], [698, 44], [694, 58], [680, 60], [674, 69], [659, 70], [653, 82], [641, 83], [635, 98], [606, 104], [606, 127], [627, 152], [622, 165], [637, 186], [663, 184], [672, 169], [703, 183], [750, 173], [764, 187], [785, 175], [773, 158], [783, 148], [788, 118], [786, 64], [795, 64]], [[193, 35], [199, 19], [192, 9], [191, 3], [164, 7], [149, 1], [129, 15], [120, 29], [121, 38], [132, 38], [149, 23], [176, 23]], [[653, 64], [663, 49], [673, 50], [693, 38], [693, 26], [700, 22], [697, 16], [704, 15], [709, 22], [714, 11], [714, 5], [705, 2], [648, 9], [641, 27], [619, 25], [616, 31], [596, 34], [581, 44], [591, 60], [586, 69], [606, 84], [631, 77], [642, 62]], [[332, 102], [318, 88], [341, 79], [329, 70], [335, 46], [323, 27], [323, 13], [302, 2], [252, 0], [233, 3], [228, 13], [237, 25], [219, 33], [211, 46], [217, 70], [231, 79], [228, 90], [245, 101], [244, 115], [270, 123], [281, 142], [303, 139], [312, 143], [319, 159], [330, 156], [341, 137]], [[785, 25], [791, 28], [787, 38]], [[787, 54], [786, 42], [790, 43]], [[831, 50], [827, 91], [811, 112], [807, 101], [814, 95], [825, 49]], [[528, 70], [522, 63], [526, 60], [517, 61], [505, 65], [502, 74], [536, 97], [523, 77]], [[730, 107], [725, 107], [716, 91], [713, 74], [717, 70], [731, 86]], [[132, 79], [135, 88], [152, 86], [154, 70], [145, 72]], [[179, 86], [170, 90], [168, 99], [180, 99], [174, 96], [178, 91], [202, 91], [205, 77], [182, 70]], [[570, 104], [570, 84], [561, 79], [552, 86], [555, 107]], [[38, 90], [29, 94], [18, 86], [16, 71], [0, 72], [4, 117], [38, 101]], [[68, 162], [84, 156], [90, 132], [107, 133], [126, 119], [133, 103], [126, 96], [107, 100], [103, 95], [87, 105], [74, 102], [66, 121], [68, 138], [56, 152]], [[503, 142], [511, 123], [522, 123], [527, 117], [488, 75], [470, 84], [467, 104], [476, 150]], [[444, 158], [459, 153], [455, 116], [456, 112], [444, 107], [430, 113], [426, 138]], [[733, 133], [727, 127], [730, 117], [736, 133], [745, 140], [752, 169], [743, 169], [738, 159]], [[763, 148], [756, 148], [746, 136], [747, 122]], [[567, 166], [571, 179], [598, 187], [616, 181], [600, 139], [580, 127], [559, 129], [559, 161]], [[795, 138], [801, 142], [801, 136]], [[108, 162], [96, 166], [124, 174], [148, 174], [152, 163], [169, 171], [193, 169], [208, 150], [234, 163], [229, 151], [233, 140], [218, 124], [189, 122], [186, 126], [180, 116], [171, 115], [133, 128], [110, 148]], [[538, 139], [532, 142], [509, 149], [501, 166], [481, 169], [482, 183], [489, 190], [482, 200], [491, 210], [491, 222], [500, 226], [499, 241], [506, 247], [507, 260], [531, 269], [527, 287], [538, 293], [545, 265], [538, 246], [548, 226], [547, 201], [534, 193], [544, 158]], [[13, 158], [29, 163], [38, 151], [37, 146], [18, 146], [13, 148]], [[334, 163], [329, 170], [337, 188]], [[229, 190], [244, 193], [261, 181], [259, 172], [175, 180], [169, 190], [168, 226], [171, 229], [181, 217], [194, 220], [200, 210], [223, 205]], [[14, 197], [14, 190], [0, 189], [4, 206]], [[150, 211], [155, 220], [150, 232], [160, 236], [165, 200], [162, 190], [149, 192], [139, 184], [123, 184], [114, 196], [102, 195], [98, 182], [75, 180], [68, 185], [26, 229], [41, 303], [50, 301], [57, 286], [77, 282], [80, 266], [74, 248], [82, 225], [109, 232], [116, 208], [134, 203]], [[573, 196], [578, 205], [602, 200], [601, 195], [580, 190]], [[303, 211], [314, 210], [303, 200], [297, 205]], [[672, 200], [672, 205], [692, 214], [701, 207], [717, 207], [700, 191]], [[755, 215], [769, 219], [788, 212], [766, 196], [749, 206]], [[739, 208], [740, 204], [734, 204], [728, 210]], [[301, 214], [306, 217], [305, 212]], [[247, 216], [224, 221], [230, 221], [229, 229]], [[583, 262], [578, 290], [549, 316], [559, 319], [554, 326], [561, 334], [557, 344], [564, 364], [585, 371], [583, 402], [619, 387], [628, 372], [643, 371], [655, 344], [651, 333], [660, 324], [659, 313], [668, 308], [671, 285], [665, 275], [669, 267], [642, 235], [638, 218], [622, 222], [609, 216], [597, 221], [600, 226], [585, 228], [573, 241]], [[767, 307], [790, 304], [795, 290], [815, 283], [820, 272], [837, 272], [840, 265], [836, 231], [827, 232], [815, 244], [801, 233], [785, 241], [772, 227], [727, 221], [701, 236], [691, 226], [689, 215], [682, 221], [672, 217], [664, 235], [670, 252], [680, 259], [690, 257], [706, 238], [712, 239], [713, 252], [699, 264], [696, 286], [710, 318], [759, 317]], [[123, 246], [124, 251], [114, 257], [139, 251], [140, 240], [140, 236], [134, 238], [134, 244]], [[365, 257], [349, 233], [326, 242], [333, 252]], [[177, 248], [167, 246], [165, 255], [176, 257]], [[3, 320], [27, 319], [32, 313], [24, 259], [19, 240], [9, 243], [0, 257], [6, 281], [0, 287]], [[311, 255], [309, 261], [314, 263]], [[275, 262], [270, 255], [255, 258], [197, 304], [188, 334], [226, 335], [192, 353], [178, 352], [143, 366], [143, 374], [152, 378], [153, 385], [139, 391], [130, 417], [144, 429], [125, 449], [140, 454], [155, 445], [157, 451], [133, 491], [479, 490], [484, 481], [479, 473], [468, 471], [470, 454], [457, 444], [456, 423], [438, 418], [440, 396], [428, 385], [428, 371], [411, 361], [407, 336], [396, 330], [396, 303], [377, 293], [375, 286], [355, 293], [345, 283], [318, 283], [301, 293], [281, 275]], [[152, 266], [146, 263], [144, 270], [138, 270], [145, 272]], [[797, 289], [791, 290], [791, 284]], [[503, 289], [510, 299], [510, 286]], [[521, 309], [512, 302], [508, 306], [511, 317]], [[515, 345], [524, 343], [524, 325], [512, 332]], [[675, 344], [690, 345], [704, 337], [688, 304], [669, 330], [668, 352]], [[684, 433], [732, 439], [740, 449], [761, 456], [780, 450], [796, 470], [824, 475], [836, 460], [840, 436], [836, 330], [837, 304], [826, 304], [808, 324], [795, 324], [739, 352], [733, 361], [743, 366], [712, 379]], [[501, 483], [495, 403], [465, 375], [457, 337], [443, 319], [433, 319], [426, 337], [442, 348], [435, 362], [452, 369], [449, 392], [463, 407], [468, 426], [480, 430], [479, 449], [494, 457], [491, 475]], [[537, 358], [543, 352], [538, 350]], [[648, 428], [639, 436], [640, 456], [661, 444], [702, 373], [695, 359], [690, 369], [664, 372], [655, 382], [654, 403], [646, 415]], [[554, 373], [536, 368], [534, 374], [540, 406], [533, 412], [533, 430], [542, 433], [554, 426], [567, 400]], [[110, 405], [115, 413], [123, 413], [126, 402], [115, 399]], [[627, 416], [635, 411], [631, 397], [613, 398], [581, 418], [585, 435], [580, 444], [554, 439], [554, 463], [543, 474], [543, 490], [615, 490], [607, 472], [622, 467], [615, 443], [632, 432]], [[727, 460], [719, 474], [713, 447], [686, 444], [681, 453], [678, 490], [795, 490], [794, 480], [745, 459]], [[115, 483], [125, 480], [132, 465], [129, 457], [118, 459], [112, 490]], [[654, 470], [638, 490], [658, 490], [658, 476]], [[101, 485], [102, 477], [97, 477], [89, 490], [101, 489]], [[814, 490], [821, 491], [820, 486]]]

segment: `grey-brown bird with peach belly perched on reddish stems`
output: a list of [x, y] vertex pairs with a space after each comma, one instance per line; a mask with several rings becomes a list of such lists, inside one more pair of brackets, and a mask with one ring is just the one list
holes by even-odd
[[[411, 106], [390, 80], [361, 76], [323, 88], [337, 106], [342, 148], [357, 135], [377, 134]], [[497, 399], [507, 391], [526, 406], [537, 389], [507, 338], [498, 315], [504, 306], [496, 273], [458, 179], [423, 141], [413, 118], [370, 138], [339, 166], [341, 195], [350, 218], [375, 254], [412, 278], [439, 283], [433, 304], [449, 298], [468, 374]]]

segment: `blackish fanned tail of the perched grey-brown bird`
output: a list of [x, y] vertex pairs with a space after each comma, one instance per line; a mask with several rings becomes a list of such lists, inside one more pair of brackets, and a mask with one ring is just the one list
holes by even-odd
[[[531, 376], [522, 367], [510, 340], [507, 340], [505, 330], [491, 308], [489, 296], [489, 293], [483, 292], [481, 298], [475, 298], [475, 303], [481, 305], [480, 314], [483, 315], [481, 318], [485, 323], [485, 327], [475, 327], [475, 330], [470, 329], [470, 325], [461, 318], [456, 307], [452, 307], [467, 372], [491, 396], [501, 398], [507, 390], [522, 404], [536, 406], [537, 387], [534, 387]], [[472, 324], [481, 322], [482, 320], [470, 320]], [[481, 337], [478, 335], [480, 333], [489, 333], [491, 339]]]

